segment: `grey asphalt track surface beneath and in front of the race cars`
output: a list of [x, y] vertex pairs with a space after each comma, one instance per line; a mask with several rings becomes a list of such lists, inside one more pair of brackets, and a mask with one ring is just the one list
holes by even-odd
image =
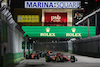
[[100, 58], [92, 58], [63, 52], [64, 55], [74, 55], [77, 58], [75, 63], [69, 62], [45, 62], [45, 58], [25, 59], [16, 65], [8, 67], [100, 67]]

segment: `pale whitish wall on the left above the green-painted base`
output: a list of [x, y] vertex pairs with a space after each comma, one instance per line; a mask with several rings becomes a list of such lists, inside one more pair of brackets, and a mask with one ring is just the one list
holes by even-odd
[[8, 46], [7, 53], [20, 53], [23, 52], [22, 41], [23, 34], [16, 28], [8, 27]]

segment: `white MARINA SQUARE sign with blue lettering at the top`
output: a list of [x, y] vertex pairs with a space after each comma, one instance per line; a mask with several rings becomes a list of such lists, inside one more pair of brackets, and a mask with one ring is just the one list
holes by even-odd
[[25, 8], [81, 8], [80, 1], [25, 1]]

